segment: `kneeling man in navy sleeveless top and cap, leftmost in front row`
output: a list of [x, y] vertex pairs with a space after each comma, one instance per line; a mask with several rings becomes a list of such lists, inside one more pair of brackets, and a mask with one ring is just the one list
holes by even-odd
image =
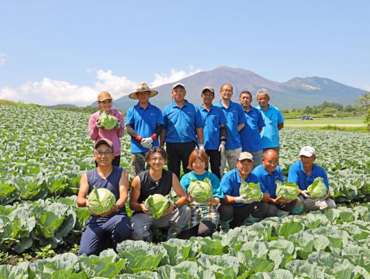
[[94, 188], [110, 190], [116, 202], [112, 208], [100, 215], [96, 215], [91, 211], [92, 208], [89, 208], [91, 216], [84, 228], [78, 255], [99, 255], [101, 251], [115, 248], [117, 243], [128, 239], [132, 232], [130, 218], [127, 217], [125, 209], [129, 186], [128, 173], [126, 169], [112, 166], [114, 160], [112, 142], [107, 139], [96, 142], [94, 158], [98, 167], [82, 174], [77, 206], [89, 208], [87, 194]]

